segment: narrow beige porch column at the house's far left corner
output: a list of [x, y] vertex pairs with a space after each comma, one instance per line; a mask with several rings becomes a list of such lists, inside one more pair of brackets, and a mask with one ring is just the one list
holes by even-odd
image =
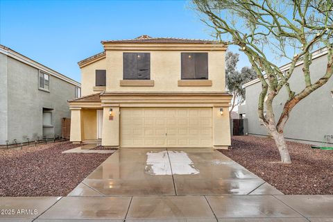
[[70, 142], [82, 142], [81, 137], [81, 108], [71, 108]]

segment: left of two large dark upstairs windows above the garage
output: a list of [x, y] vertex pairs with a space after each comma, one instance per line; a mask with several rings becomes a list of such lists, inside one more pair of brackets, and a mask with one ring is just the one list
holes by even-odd
[[123, 53], [123, 79], [151, 79], [151, 53]]

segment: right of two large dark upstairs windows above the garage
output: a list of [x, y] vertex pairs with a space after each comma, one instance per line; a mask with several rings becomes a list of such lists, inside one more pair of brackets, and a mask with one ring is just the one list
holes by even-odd
[[182, 79], [208, 79], [208, 53], [182, 53]]

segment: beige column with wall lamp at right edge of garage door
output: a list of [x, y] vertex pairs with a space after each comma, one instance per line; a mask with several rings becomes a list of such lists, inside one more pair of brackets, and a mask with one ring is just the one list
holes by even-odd
[[[223, 114], [221, 114], [221, 108]], [[213, 146], [214, 148], [228, 148], [230, 145], [229, 108], [213, 107]]]

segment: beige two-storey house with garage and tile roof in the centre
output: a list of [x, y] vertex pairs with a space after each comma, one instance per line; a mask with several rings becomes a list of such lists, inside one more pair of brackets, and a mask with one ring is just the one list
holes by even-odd
[[226, 46], [147, 35], [102, 44], [102, 53], [78, 62], [83, 97], [69, 101], [72, 142], [230, 146]]

